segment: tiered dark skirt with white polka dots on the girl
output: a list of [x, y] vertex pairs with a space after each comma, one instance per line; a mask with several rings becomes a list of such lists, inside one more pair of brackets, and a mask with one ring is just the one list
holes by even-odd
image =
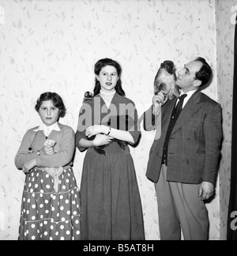
[[58, 193], [46, 171], [26, 175], [19, 240], [80, 240], [81, 201], [72, 168], [59, 177]]

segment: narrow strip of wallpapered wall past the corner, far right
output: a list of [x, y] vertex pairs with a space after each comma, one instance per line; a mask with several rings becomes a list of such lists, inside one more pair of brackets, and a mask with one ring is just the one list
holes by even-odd
[[226, 239], [231, 177], [231, 120], [234, 70], [234, 36], [237, 1], [217, 1], [217, 85], [223, 109], [224, 143], [220, 162], [220, 238]]

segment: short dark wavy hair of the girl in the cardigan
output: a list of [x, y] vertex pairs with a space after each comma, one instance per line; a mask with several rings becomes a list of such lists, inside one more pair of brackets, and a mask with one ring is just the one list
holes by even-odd
[[35, 106], [37, 112], [39, 112], [42, 102], [47, 100], [52, 100], [54, 106], [59, 108], [60, 111], [58, 117], [63, 118], [66, 115], [66, 107], [63, 104], [62, 98], [56, 92], [44, 92], [40, 95]]

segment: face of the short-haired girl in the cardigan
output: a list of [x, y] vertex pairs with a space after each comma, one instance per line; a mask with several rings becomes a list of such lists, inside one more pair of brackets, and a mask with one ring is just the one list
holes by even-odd
[[39, 115], [46, 126], [52, 126], [58, 121], [59, 108], [54, 106], [52, 100], [43, 101], [39, 109]]

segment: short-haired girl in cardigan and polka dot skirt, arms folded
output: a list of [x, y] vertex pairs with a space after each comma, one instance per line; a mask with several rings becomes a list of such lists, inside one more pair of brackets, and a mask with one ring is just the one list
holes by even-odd
[[55, 92], [41, 94], [42, 123], [24, 134], [15, 164], [25, 173], [20, 240], [81, 239], [81, 202], [73, 175], [74, 132], [58, 122], [66, 114]]

